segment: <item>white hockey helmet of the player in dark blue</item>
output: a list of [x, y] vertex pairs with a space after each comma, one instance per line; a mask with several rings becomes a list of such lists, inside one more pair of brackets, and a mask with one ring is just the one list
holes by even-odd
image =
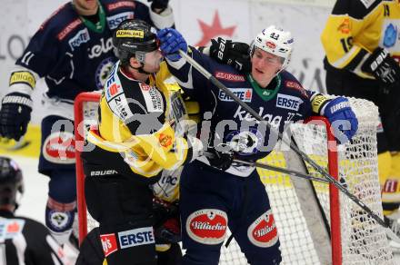
[[250, 48], [250, 55], [255, 52], [255, 47], [282, 58], [282, 70], [284, 70], [290, 62], [293, 50], [292, 34], [284, 31], [275, 25], [265, 28], [260, 34], [257, 34]]

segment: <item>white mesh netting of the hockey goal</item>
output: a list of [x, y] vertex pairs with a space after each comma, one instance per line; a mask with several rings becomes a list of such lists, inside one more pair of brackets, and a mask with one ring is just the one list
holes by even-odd
[[[93, 98], [94, 101], [98, 101], [98, 94]], [[350, 102], [358, 118], [359, 128], [352, 142], [338, 147], [339, 175], [351, 193], [383, 218], [376, 155], [376, 126], [379, 123], [377, 108], [373, 103], [365, 100], [352, 98]], [[85, 115], [84, 119], [86, 128], [87, 124], [95, 121], [94, 108], [95, 104], [84, 103], [84, 113], [89, 113]], [[79, 121], [75, 120], [75, 122]], [[328, 152], [325, 126], [293, 124], [291, 130], [298, 147], [327, 169]], [[279, 145], [274, 152], [260, 162], [299, 171], [298, 167], [287, 163], [284, 152], [280, 151], [283, 148], [283, 144]], [[285, 148], [285, 152], [287, 152], [287, 148]], [[318, 178], [321, 177], [310, 166], [307, 165], [306, 168], [307, 173]], [[315, 217], [305, 211], [304, 206], [307, 201], [304, 199], [302, 201], [298, 197], [303, 194], [303, 191], [296, 193], [292, 180], [283, 173], [268, 170], [258, 170], [258, 172], [265, 183], [265, 189], [274, 212], [281, 242], [282, 264], [325, 265], [332, 263], [329, 243], [326, 256], [326, 253], [321, 254], [324, 251], [321, 250], [323, 243], [316, 243], [315, 238], [311, 235], [313, 232], [318, 234], [319, 231], [316, 229], [317, 225], [310, 224], [310, 220], [314, 221]], [[84, 176], [80, 176], [80, 178], [83, 180]], [[329, 201], [332, 198], [330, 198], [328, 185], [313, 182], [313, 186], [317, 194], [317, 202], [324, 212], [322, 218], [330, 225]], [[341, 229], [332, 231], [332, 233], [340, 234], [342, 264], [395, 264], [383, 228], [345, 194], [340, 193], [338, 200], [340, 208], [340, 217], [338, 218]], [[82, 204], [82, 201], [78, 200], [78, 203]], [[90, 218], [90, 215], [86, 222], [88, 231], [98, 225]], [[80, 224], [80, 226], [82, 225]], [[337, 249], [340, 248], [333, 248], [334, 255], [337, 255], [335, 254]], [[325, 260], [326, 257], [329, 261]], [[228, 248], [222, 247], [220, 264], [247, 264], [245, 256], [235, 240], [231, 241]]]

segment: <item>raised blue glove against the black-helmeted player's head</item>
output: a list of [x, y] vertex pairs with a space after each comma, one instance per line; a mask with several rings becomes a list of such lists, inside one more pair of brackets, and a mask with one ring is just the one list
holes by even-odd
[[161, 52], [163, 52], [166, 59], [176, 62], [181, 59], [181, 55], [178, 53], [179, 50], [187, 53], [187, 44], [184, 37], [174, 28], [168, 27], [158, 31], [157, 37], [161, 42]]

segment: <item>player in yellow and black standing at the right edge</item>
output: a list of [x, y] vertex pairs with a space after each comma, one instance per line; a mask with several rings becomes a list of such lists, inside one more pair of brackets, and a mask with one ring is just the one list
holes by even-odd
[[399, 29], [398, 0], [337, 0], [322, 34], [327, 92], [379, 107], [379, 177], [389, 222], [400, 218]]

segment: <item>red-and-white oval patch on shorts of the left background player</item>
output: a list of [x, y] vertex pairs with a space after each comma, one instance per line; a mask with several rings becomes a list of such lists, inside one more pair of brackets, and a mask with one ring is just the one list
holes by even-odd
[[53, 132], [43, 143], [43, 156], [48, 162], [75, 163], [75, 138], [71, 132]]

